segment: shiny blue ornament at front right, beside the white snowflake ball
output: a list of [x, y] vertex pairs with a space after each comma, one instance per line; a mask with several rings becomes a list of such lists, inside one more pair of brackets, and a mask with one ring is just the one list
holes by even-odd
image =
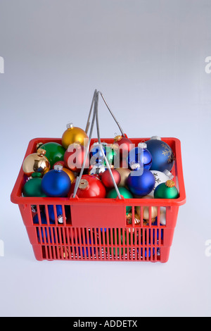
[[132, 171], [127, 177], [127, 186], [132, 194], [145, 196], [155, 187], [155, 177], [148, 169]]

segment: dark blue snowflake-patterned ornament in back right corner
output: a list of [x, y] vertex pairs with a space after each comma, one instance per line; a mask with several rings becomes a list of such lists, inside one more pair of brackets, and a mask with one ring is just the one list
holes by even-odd
[[166, 142], [162, 142], [157, 136], [151, 137], [146, 145], [153, 158], [151, 170], [171, 171], [174, 165], [174, 154], [170, 146]]

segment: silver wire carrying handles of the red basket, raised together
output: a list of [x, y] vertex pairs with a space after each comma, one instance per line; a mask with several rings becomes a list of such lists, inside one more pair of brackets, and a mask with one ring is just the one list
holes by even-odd
[[96, 130], [97, 130], [98, 143], [99, 143], [99, 146], [100, 146], [100, 149], [101, 149], [101, 153], [103, 154], [103, 158], [104, 158], [104, 160], [106, 161], [106, 166], [107, 166], [108, 171], [109, 171], [109, 173], [110, 173], [110, 176], [111, 176], [111, 178], [112, 178], [112, 180], [113, 180], [113, 185], [114, 185], [115, 190], [116, 190], [116, 192], [117, 192], [117, 196], [118, 196], [119, 199], [122, 199], [122, 196], [121, 196], [121, 194], [120, 194], [120, 191], [119, 191], [119, 189], [118, 189], [118, 187], [117, 187], [117, 184], [116, 184], [116, 182], [115, 182], [115, 179], [114, 179], [114, 177], [113, 177], [113, 173], [112, 173], [112, 171], [111, 171], [111, 169], [110, 169], [110, 164], [109, 164], [109, 162], [108, 162], [108, 159], [106, 158], [106, 155], [105, 155], [105, 153], [104, 153], [104, 151], [103, 151], [103, 146], [102, 146], [102, 144], [101, 144], [101, 135], [100, 135], [100, 129], [99, 129], [99, 123], [98, 123], [98, 95], [99, 95], [99, 94], [101, 94], [102, 99], [103, 99], [103, 101], [105, 102], [105, 104], [106, 104], [108, 110], [110, 111], [110, 113], [111, 113], [111, 115], [113, 116], [115, 122], [117, 123], [118, 127], [120, 128], [120, 131], [121, 131], [121, 133], [122, 133], [122, 136], [125, 137], [124, 132], [123, 132], [123, 130], [122, 130], [122, 127], [120, 126], [120, 123], [117, 122], [117, 119], [115, 118], [115, 115], [113, 114], [113, 112], [112, 112], [112, 111], [110, 110], [110, 108], [108, 107], [108, 104], [107, 104], [106, 99], [104, 98], [103, 94], [102, 94], [100, 91], [95, 90], [95, 91], [94, 91], [93, 99], [92, 99], [92, 101], [91, 101], [91, 108], [90, 108], [90, 111], [89, 111], [89, 117], [88, 117], [88, 120], [87, 120], [87, 127], [86, 127], [86, 133], [87, 133], [88, 130], [89, 130], [89, 126], [90, 126], [91, 112], [92, 112], [93, 109], [94, 109], [93, 117], [92, 117], [92, 120], [91, 120], [91, 129], [90, 129], [90, 132], [89, 132], [89, 142], [88, 142], [88, 144], [87, 144], [87, 148], [86, 148], [86, 152], [85, 152], [85, 156], [84, 156], [84, 162], [83, 162], [83, 165], [82, 165], [82, 170], [80, 171], [79, 176], [76, 178], [75, 188], [74, 188], [74, 192], [73, 192], [72, 197], [75, 198], [76, 193], [77, 193], [77, 189], [78, 189], [78, 187], [79, 187], [79, 182], [80, 182], [80, 180], [82, 179], [82, 175], [83, 175], [83, 173], [84, 173], [84, 165], [85, 165], [85, 162], [86, 162], [86, 160], [87, 160], [87, 156], [88, 156], [88, 152], [89, 152], [89, 146], [90, 146], [91, 136], [92, 136], [93, 127], [94, 127], [94, 121], [96, 120]]

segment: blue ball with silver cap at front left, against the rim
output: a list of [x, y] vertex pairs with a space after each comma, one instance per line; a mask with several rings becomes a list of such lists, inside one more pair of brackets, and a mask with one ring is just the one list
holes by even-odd
[[71, 187], [71, 180], [67, 173], [62, 171], [62, 165], [55, 165], [44, 175], [41, 181], [41, 189], [47, 196], [67, 196]]

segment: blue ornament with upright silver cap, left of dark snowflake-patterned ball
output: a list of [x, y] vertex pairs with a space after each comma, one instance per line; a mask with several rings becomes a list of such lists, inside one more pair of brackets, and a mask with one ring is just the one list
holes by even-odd
[[131, 170], [136, 170], [137, 164], [144, 169], [149, 170], [151, 168], [152, 156], [148, 149], [146, 149], [145, 143], [139, 143], [137, 147], [134, 147], [134, 149], [129, 152], [127, 163]]

